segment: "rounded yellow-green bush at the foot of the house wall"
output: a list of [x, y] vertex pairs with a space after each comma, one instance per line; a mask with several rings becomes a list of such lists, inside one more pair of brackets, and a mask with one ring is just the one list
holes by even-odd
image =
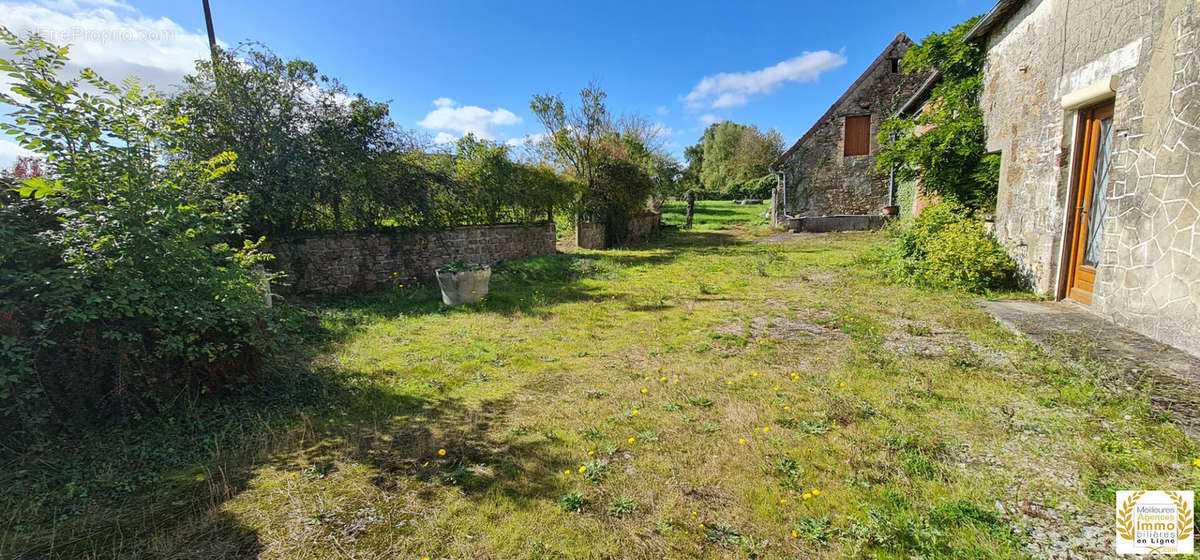
[[943, 201], [902, 227], [888, 251], [896, 278], [973, 293], [1013, 289], [1016, 266], [964, 206]]

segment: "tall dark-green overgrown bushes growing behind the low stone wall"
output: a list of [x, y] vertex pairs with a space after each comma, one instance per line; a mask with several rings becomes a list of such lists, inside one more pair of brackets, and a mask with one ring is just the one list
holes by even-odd
[[349, 95], [312, 62], [253, 44], [216, 61], [198, 61], [168, 100], [187, 118], [174, 141], [193, 161], [236, 149], [218, 185], [246, 197], [253, 234], [540, 221], [574, 200], [569, 181], [511, 162], [505, 146], [467, 138], [426, 153], [385, 103]]

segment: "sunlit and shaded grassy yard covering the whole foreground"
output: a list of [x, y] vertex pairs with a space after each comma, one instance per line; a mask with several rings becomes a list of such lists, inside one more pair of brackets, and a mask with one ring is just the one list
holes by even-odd
[[1094, 558], [1116, 489], [1200, 482], [1145, 387], [884, 284], [880, 234], [697, 207], [475, 306], [307, 303], [268, 391], [6, 458], [0, 556]]

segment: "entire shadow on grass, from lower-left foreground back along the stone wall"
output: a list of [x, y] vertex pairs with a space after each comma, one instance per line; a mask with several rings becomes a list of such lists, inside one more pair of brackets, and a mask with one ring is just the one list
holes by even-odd
[[498, 493], [518, 508], [553, 499], [554, 475], [569, 458], [545, 438], [491, 429], [510, 401], [400, 393], [379, 384], [379, 373], [330, 363], [329, 351], [380, 318], [550, 315], [560, 303], [628, 301], [584, 279], [746, 242], [720, 231], [670, 231], [624, 249], [506, 263], [486, 301], [460, 308], [443, 306], [430, 285], [296, 300], [318, 309], [317, 320], [306, 325], [300, 354], [272, 362], [275, 373], [254, 390], [5, 451], [0, 558], [254, 558], [264, 544], [226, 506], [272, 469], [358, 463], [376, 471], [371, 483], [380, 492], [416, 486], [426, 500], [440, 484], [468, 496]]

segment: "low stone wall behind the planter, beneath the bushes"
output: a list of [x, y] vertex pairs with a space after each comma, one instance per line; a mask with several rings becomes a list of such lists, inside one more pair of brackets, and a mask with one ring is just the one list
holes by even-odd
[[271, 266], [287, 273], [282, 293], [383, 289], [404, 279], [434, 279], [456, 260], [494, 265], [554, 254], [554, 224], [472, 225], [422, 233], [314, 235], [271, 243]]

